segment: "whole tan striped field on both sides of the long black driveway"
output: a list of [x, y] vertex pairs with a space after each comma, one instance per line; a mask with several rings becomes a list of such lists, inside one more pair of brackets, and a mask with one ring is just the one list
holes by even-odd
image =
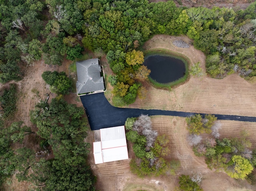
[[[185, 54], [194, 64], [202, 64], [204, 75], [191, 77], [188, 82], [173, 88], [171, 91], [160, 90], [145, 83], [147, 95], [144, 100], [137, 98], [130, 108], [178, 110], [187, 112], [202, 112], [213, 114], [235, 114], [256, 116], [256, 85], [250, 84], [238, 75], [233, 74], [224, 79], [212, 79], [205, 73], [205, 56], [201, 51], [190, 48], [178, 48], [172, 42], [182, 39], [190, 43], [187, 37], [172, 37], [156, 35], [144, 45], [145, 49], [164, 48]], [[110, 93], [107, 93], [110, 95]], [[109, 98], [110, 100], [110, 98]], [[153, 128], [158, 133], [166, 134], [170, 138], [170, 154], [167, 159], [179, 159], [180, 167], [176, 175], [200, 172], [203, 180], [200, 183], [204, 191], [253, 191], [255, 187], [246, 181], [236, 181], [224, 172], [208, 169], [204, 158], [196, 157], [192, 147], [186, 142], [187, 130], [184, 118], [173, 116], [152, 116]], [[256, 123], [222, 120], [221, 138], [239, 137], [246, 129], [252, 148], [256, 148]], [[132, 156], [131, 146], [128, 145], [129, 156]], [[94, 165], [91, 152], [91, 165], [98, 176], [97, 189], [101, 191], [136, 191], [148, 186], [156, 191], [172, 191], [178, 186], [177, 176], [165, 175], [160, 177], [146, 177], [139, 179], [130, 172], [129, 160]], [[148, 189], [149, 190], [149, 189]]]

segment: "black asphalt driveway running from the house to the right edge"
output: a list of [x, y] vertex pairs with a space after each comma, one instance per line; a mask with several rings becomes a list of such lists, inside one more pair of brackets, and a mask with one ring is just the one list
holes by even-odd
[[[168, 115], [179, 117], [187, 117], [196, 114], [190, 112], [166, 111], [156, 109], [145, 110], [132, 108], [117, 108], [110, 105], [110, 103], [104, 96], [104, 93], [80, 96], [80, 98], [84, 105], [86, 115], [88, 116], [88, 120], [92, 130], [124, 125], [128, 117], [138, 117], [140, 116], [140, 114], [148, 114], [149, 116]], [[202, 115], [204, 116], [205, 114]], [[214, 115], [220, 120], [256, 122], [256, 117], [220, 114]]]

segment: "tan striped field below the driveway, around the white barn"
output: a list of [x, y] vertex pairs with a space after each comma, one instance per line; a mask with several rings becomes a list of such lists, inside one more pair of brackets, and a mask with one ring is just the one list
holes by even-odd
[[[214, 172], [208, 169], [204, 162], [204, 158], [196, 157], [192, 151], [192, 147], [186, 142], [187, 130], [186, 121], [181, 117], [173, 116], [153, 116], [153, 129], [158, 131], [160, 135], [165, 134], [170, 139], [170, 154], [166, 159], [179, 159], [180, 167], [176, 171], [176, 175], [200, 172], [203, 180], [200, 183], [204, 191], [247, 191], [255, 190], [246, 181], [236, 181], [230, 178], [226, 173]], [[222, 130], [220, 131], [222, 138], [239, 137], [240, 128], [246, 127], [251, 133], [249, 139], [255, 140], [256, 123], [221, 121]], [[232, 134], [229, 134], [232, 132]], [[255, 148], [255, 142], [253, 142]], [[129, 156], [132, 156], [130, 144], [128, 144]], [[100, 191], [137, 191], [138, 189], [147, 189], [148, 191], [172, 191], [178, 186], [177, 176], [167, 175], [159, 177], [144, 177], [140, 179], [132, 174], [129, 166], [130, 160], [114, 161], [103, 164], [94, 164], [93, 154], [90, 153], [90, 163], [92, 169], [98, 177], [96, 188]], [[151, 189], [148, 189], [151, 188]]]

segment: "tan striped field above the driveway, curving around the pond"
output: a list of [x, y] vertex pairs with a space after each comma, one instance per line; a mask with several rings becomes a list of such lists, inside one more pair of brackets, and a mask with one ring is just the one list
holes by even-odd
[[[172, 45], [176, 39], [189, 43], [187, 37], [156, 35], [144, 45], [145, 49], [164, 48], [182, 53], [192, 63], [201, 63], [205, 71], [204, 54], [190, 48], [178, 48]], [[256, 84], [250, 84], [236, 74], [224, 79], [213, 79], [204, 73], [202, 77], [190, 77], [189, 81], [171, 91], [146, 87], [144, 100], [137, 99], [130, 108], [177, 110], [212, 114], [230, 114], [256, 116]]]

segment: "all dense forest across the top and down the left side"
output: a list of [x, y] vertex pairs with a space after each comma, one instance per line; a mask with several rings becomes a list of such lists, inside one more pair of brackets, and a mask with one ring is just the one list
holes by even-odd
[[[64, 58], [80, 58], [84, 49], [103, 51], [115, 74], [109, 77], [114, 98], [130, 104], [149, 74], [142, 65], [140, 47], [155, 34], [193, 39], [194, 46], [207, 56], [211, 77], [238, 73], [248, 80], [256, 78], [256, 2], [245, 10], [233, 10], [177, 7], [173, 1], [0, 0], [0, 83], [22, 79], [22, 66], [33, 67], [40, 59], [61, 65]], [[45, 79], [46, 75], [52, 74], [45, 73]], [[70, 81], [63, 73], [54, 75], [59, 83], [48, 79], [48, 84], [56, 86], [59, 94], [66, 93], [58, 85], [62, 79], [69, 85]], [[82, 144], [84, 111], [58, 96], [49, 104], [42, 101], [31, 108], [38, 132], [31, 132], [22, 122], [6, 126], [15, 112], [15, 91], [15, 84], [10, 85], [0, 97], [0, 182], [18, 171], [19, 180], [32, 181], [37, 189], [94, 190], [95, 177], [85, 160], [88, 145]], [[47, 120], [42, 123], [40, 119]], [[29, 133], [36, 133], [42, 150], [51, 148], [55, 158], [38, 161], [30, 149], [12, 148]], [[68, 187], [70, 182], [72, 187]]]

